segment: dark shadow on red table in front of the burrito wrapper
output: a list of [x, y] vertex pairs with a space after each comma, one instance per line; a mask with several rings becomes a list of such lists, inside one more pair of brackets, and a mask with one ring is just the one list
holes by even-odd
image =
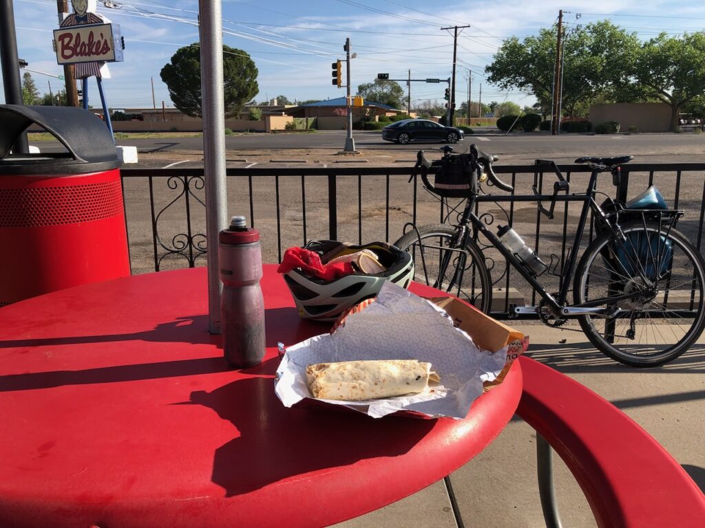
[[[374, 420], [323, 404], [288, 409], [278, 401], [273, 384], [271, 378], [253, 377], [191, 393], [190, 403], [213, 409], [239, 432], [214, 455], [212, 480], [226, 497], [365, 458], [402, 455], [436, 423], [403, 417]], [[247, 406], [238, 405], [243, 401]]]

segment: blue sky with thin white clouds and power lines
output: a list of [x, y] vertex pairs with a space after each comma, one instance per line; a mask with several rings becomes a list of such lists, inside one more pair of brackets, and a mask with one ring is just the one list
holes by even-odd
[[[112, 5], [108, 8], [105, 6]], [[439, 8], [439, 6], [443, 8]], [[18, 50], [29, 68], [53, 75], [51, 30], [58, 25], [55, 0], [14, 0]], [[257, 101], [285, 95], [288, 99], [333, 99], [345, 89], [331, 84], [331, 62], [345, 58], [343, 43], [350, 37], [357, 58], [351, 61], [353, 92], [372, 82], [377, 73], [391, 79], [447, 78], [453, 67], [452, 31], [441, 27], [471, 25], [458, 39], [456, 90], [467, 95], [472, 71], [472, 100], [515, 101], [532, 104], [532, 96], [503, 92], [486, 83], [484, 66], [502, 39], [536, 34], [549, 27], [563, 9], [568, 25], [610, 18], [613, 23], [649, 39], [663, 30], [673, 34], [705, 28], [703, 0], [584, 0], [564, 2], [494, 0], [439, 3], [429, 0], [223, 0], [223, 42], [252, 56], [259, 70]], [[98, 13], [121, 25], [125, 61], [110, 65], [104, 81], [112, 108], [152, 106], [152, 84], [157, 107], [172, 106], [159, 71], [178, 49], [198, 40], [197, 0], [116, 0], [98, 2]], [[577, 18], [580, 13], [580, 18]], [[32, 73], [40, 92], [61, 81]], [[343, 77], [345, 82], [345, 77]], [[405, 84], [405, 83], [401, 83]], [[423, 100], [442, 101], [444, 84], [413, 82], [412, 106]], [[405, 87], [406, 89], [406, 87]], [[92, 103], [97, 89], [90, 82]], [[4, 94], [0, 94], [4, 101]]]

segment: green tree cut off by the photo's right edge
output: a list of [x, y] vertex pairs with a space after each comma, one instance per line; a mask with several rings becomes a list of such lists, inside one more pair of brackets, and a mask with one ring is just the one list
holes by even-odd
[[705, 94], [705, 32], [644, 42], [633, 73], [647, 96], [670, 105], [670, 130], [677, 130], [680, 108]]

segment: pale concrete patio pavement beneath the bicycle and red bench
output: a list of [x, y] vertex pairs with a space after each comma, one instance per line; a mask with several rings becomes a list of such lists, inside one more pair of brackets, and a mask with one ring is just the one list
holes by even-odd
[[[668, 365], [635, 369], [603, 356], [582, 332], [551, 329], [540, 322], [512, 325], [529, 335], [527, 356], [572, 377], [627, 413], [705, 490], [705, 336]], [[580, 486], [558, 456], [554, 461], [564, 526], [595, 527]], [[450, 481], [465, 527], [546, 526], [537, 485], [536, 433], [516, 415], [479, 456], [451, 474]], [[442, 481], [386, 508], [336, 524], [336, 528], [455, 526]]]

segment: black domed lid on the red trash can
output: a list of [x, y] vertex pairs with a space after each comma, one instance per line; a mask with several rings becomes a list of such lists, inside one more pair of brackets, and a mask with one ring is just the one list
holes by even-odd
[[[0, 176], [61, 175], [120, 166], [112, 134], [94, 113], [73, 106], [0, 105]], [[66, 147], [63, 153], [22, 154], [10, 149], [31, 125], [47, 130]]]

